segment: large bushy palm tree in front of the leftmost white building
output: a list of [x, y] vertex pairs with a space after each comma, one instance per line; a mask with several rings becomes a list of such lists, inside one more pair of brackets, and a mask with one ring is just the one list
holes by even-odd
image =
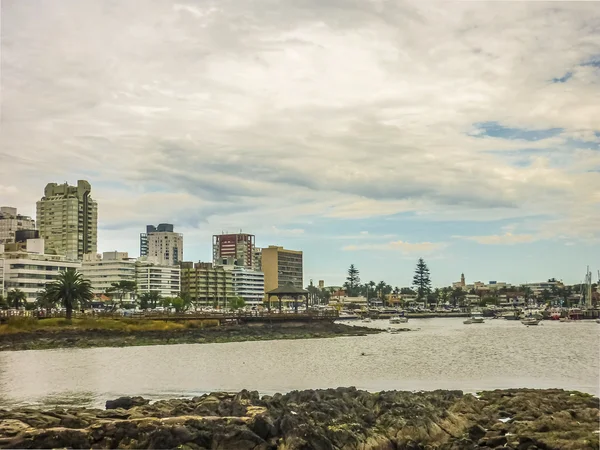
[[67, 310], [67, 320], [73, 317], [73, 308], [85, 306], [94, 296], [90, 282], [72, 268], [61, 272], [56, 281], [46, 285], [46, 292]]

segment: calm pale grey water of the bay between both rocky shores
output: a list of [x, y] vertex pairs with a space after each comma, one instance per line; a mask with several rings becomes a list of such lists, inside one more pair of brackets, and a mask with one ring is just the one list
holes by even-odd
[[[363, 325], [363, 324], [360, 324]], [[370, 326], [388, 328], [387, 321]], [[595, 322], [411, 319], [418, 331], [365, 337], [0, 353], [0, 407], [103, 405], [119, 395], [356, 386], [476, 391], [560, 387], [600, 394]], [[361, 355], [365, 353], [365, 355]]]

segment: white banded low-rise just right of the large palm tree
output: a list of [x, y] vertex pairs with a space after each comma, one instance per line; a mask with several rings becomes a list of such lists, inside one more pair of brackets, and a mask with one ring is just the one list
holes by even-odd
[[[113, 283], [136, 281], [136, 260], [127, 252], [88, 253], [84, 255], [81, 273], [90, 281], [94, 294], [104, 294]], [[135, 300], [135, 293], [126, 294], [125, 301]]]

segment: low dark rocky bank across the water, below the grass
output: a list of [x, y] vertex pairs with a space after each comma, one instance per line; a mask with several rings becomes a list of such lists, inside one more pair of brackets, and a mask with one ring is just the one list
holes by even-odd
[[185, 328], [181, 330], [139, 331], [58, 328], [0, 334], [0, 351], [311, 339], [364, 336], [381, 331], [330, 322], [313, 322], [294, 327], [235, 325], [212, 328]]

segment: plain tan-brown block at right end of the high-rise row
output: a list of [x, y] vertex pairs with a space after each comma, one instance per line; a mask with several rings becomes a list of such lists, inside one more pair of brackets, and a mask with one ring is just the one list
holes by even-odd
[[269, 245], [262, 249], [262, 271], [265, 274], [265, 292], [288, 284], [302, 289], [302, 252]]

